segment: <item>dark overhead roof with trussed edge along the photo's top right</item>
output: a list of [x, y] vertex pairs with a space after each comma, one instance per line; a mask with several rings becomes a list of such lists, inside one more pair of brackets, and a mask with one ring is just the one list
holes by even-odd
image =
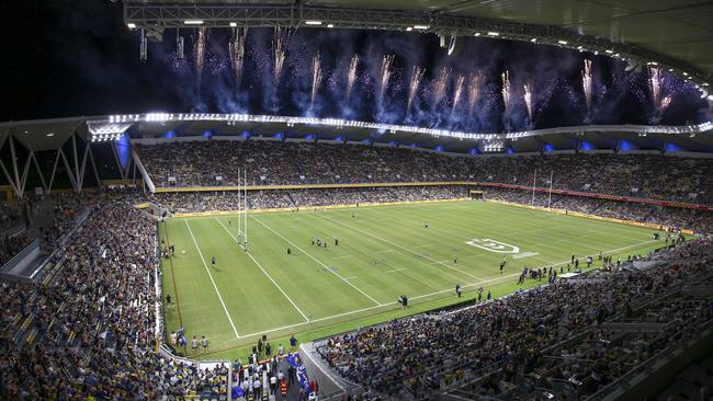
[[[713, 85], [713, 3], [700, 0], [124, 0], [124, 19], [149, 32], [185, 26], [330, 26], [477, 35], [587, 51], [632, 66], [657, 62]], [[307, 21], [320, 24], [306, 24]], [[686, 75], [683, 75], [686, 72]]]

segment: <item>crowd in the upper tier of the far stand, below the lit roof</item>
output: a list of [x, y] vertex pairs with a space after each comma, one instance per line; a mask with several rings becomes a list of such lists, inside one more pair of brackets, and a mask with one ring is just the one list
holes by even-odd
[[[658, 154], [452, 157], [415, 149], [268, 140], [170, 141], [136, 149], [170, 186], [480, 181], [712, 204], [713, 160]], [[220, 177], [218, 181], [216, 177]]]

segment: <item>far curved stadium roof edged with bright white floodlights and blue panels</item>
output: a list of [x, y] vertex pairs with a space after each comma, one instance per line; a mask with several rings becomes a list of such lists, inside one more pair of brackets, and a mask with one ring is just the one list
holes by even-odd
[[[148, 113], [0, 123], [0, 144], [11, 134], [27, 149], [61, 147], [77, 133], [88, 141], [191, 136], [262, 137], [399, 145], [456, 153], [552, 150], [658, 150], [713, 152], [713, 124], [600, 125], [509, 134], [471, 134], [333, 118], [246, 114]], [[477, 149], [477, 150], [474, 150]]]

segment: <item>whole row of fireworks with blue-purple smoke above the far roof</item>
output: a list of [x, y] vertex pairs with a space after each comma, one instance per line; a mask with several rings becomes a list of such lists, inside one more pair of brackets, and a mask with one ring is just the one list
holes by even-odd
[[[671, 101], [689, 96], [697, 102], [702, 92], [653, 62], [638, 71], [625, 70], [615, 59], [607, 65], [598, 59], [602, 70], [598, 64], [595, 82], [593, 59], [578, 54], [559, 64], [537, 59], [552, 64], [536, 68], [508, 65], [505, 56], [497, 64], [478, 65], [461, 56], [409, 54], [406, 46], [381, 43], [329, 47], [298, 35], [286, 27], [250, 28], [249, 36], [245, 27], [194, 27], [185, 60], [167, 53], [165, 61], [173, 76], [195, 80], [178, 96], [196, 110], [373, 118], [464, 131], [531, 129], [535, 118], [537, 126], [548, 127], [557, 117], [547, 112], [562, 104], [584, 124], [613, 123], [620, 114], [612, 111], [624, 104], [643, 106], [649, 124], [659, 124], [661, 116], [670, 124], [682, 118]], [[507, 68], [495, 69], [503, 64]]]

